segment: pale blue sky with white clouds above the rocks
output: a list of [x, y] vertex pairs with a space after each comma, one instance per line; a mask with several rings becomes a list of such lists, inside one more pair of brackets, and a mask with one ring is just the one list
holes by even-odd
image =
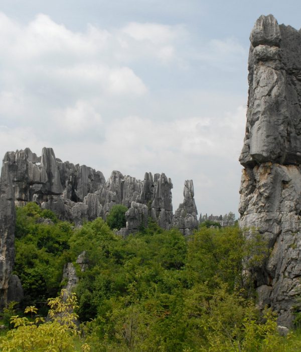
[[199, 214], [238, 216], [249, 34], [301, 2], [0, 0], [0, 155], [193, 180]]

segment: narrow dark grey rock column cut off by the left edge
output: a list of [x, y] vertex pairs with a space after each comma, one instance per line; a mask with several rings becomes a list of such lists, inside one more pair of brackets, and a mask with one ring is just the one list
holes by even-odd
[[15, 197], [9, 162], [4, 161], [0, 177], [0, 307], [6, 306], [10, 300], [23, 299], [20, 280], [18, 276], [12, 275], [15, 261], [15, 219]]

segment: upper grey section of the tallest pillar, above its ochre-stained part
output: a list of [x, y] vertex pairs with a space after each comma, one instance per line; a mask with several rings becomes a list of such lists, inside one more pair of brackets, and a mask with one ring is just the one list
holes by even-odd
[[242, 165], [301, 161], [301, 35], [261, 16], [251, 33]]

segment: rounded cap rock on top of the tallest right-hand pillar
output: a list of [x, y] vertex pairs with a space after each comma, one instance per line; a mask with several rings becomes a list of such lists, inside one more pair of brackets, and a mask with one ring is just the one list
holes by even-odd
[[250, 41], [257, 45], [279, 46], [281, 34], [277, 20], [273, 15], [260, 16], [250, 34]]

